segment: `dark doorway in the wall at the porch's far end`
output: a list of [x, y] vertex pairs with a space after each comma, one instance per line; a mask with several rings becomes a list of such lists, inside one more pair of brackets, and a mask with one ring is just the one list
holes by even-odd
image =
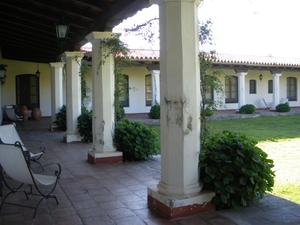
[[29, 110], [40, 108], [39, 78], [35, 74], [16, 76], [16, 104], [26, 105]]

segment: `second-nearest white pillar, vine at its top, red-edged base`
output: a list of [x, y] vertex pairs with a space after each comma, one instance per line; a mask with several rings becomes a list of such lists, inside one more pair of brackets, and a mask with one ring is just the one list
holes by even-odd
[[[101, 52], [100, 40], [111, 38], [111, 32], [92, 32], [86, 36], [92, 43], [93, 147], [88, 152], [92, 163], [122, 162], [122, 152], [113, 145], [115, 131], [115, 75], [113, 55]], [[104, 64], [99, 65], [100, 61]]]

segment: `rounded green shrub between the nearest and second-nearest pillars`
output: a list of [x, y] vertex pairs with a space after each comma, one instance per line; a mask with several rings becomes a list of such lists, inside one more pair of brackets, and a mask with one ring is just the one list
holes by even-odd
[[124, 161], [146, 160], [159, 153], [158, 134], [141, 122], [127, 119], [117, 123], [114, 145], [123, 152]]

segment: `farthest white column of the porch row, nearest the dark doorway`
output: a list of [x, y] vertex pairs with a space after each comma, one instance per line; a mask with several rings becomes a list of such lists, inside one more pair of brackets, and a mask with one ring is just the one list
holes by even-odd
[[[51, 68], [51, 113], [52, 123], [56, 120], [56, 115], [63, 106], [63, 62], [50, 63]], [[54, 126], [52, 124], [52, 126]]]

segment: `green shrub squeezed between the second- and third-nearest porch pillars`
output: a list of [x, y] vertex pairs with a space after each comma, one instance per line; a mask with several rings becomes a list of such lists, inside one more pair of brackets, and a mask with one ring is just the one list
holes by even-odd
[[78, 133], [87, 142], [93, 142], [92, 114], [92, 110], [83, 109], [81, 115], [77, 118]]

